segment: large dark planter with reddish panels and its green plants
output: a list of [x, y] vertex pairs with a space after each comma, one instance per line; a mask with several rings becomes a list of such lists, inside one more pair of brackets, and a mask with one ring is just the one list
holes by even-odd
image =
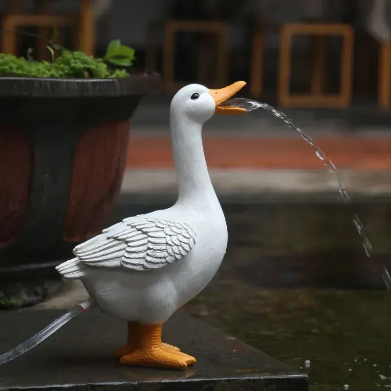
[[51, 62], [0, 54], [0, 308], [42, 301], [54, 266], [102, 231], [130, 118], [161, 86], [120, 41], [104, 58], [47, 47]]

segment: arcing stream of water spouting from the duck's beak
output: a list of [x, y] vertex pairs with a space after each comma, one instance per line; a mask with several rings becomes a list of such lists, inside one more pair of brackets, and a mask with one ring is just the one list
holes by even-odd
[[[369, 242], [368, 236], [365, 232], [364, 226], [360, 220], [360, 217], [358, 217], [357, 213], [355, 212], [354, 205], [352, 201], [350, 200], [350, 197], [348, 196], [348, 193], [346, 191], [345, 185], [343, 183], [341, 175], [338, 173], [336, 167], [331, 162], [331, 160], [326, 156], [325, 152], [323, 152], [315, 143], [312, 141], [312, 138], [309, 137], [307, 134], [304, 133], [303, 130], [299, 129], [297, 126], [295, 126], [290, 118], [288, 118], [283, 112], [280, 110], [275, 109], [273, 106], [268, 105], [267, 103], [261, 103], [259, 101], [255, 101], [252, 99], [247, 98], [233, 98], [229, 99], [226, 102], [224, 102], [221, 106], [236, 106], [242, 109], [246, 109], [247, 111], [253, 111], [257, 109], [264, 109], [270, 113], [272, 113], [277, 118], [282, 119], [289, 128], [294, 130], [296, 133], [299, 134], [299, 136], [305, 140], [314, 150], [316, 156], [323, 162], [325, 165], [327, 171], [334, 174], [337, 179], [338, 183], [338, 190], [339, 193], [345, 202], [345, 204], [348, 206], [352, 213], [352, 219], [353, 223], [357, 229], [357, 232], [359, 233], [363, 247], [365, 249], [365, 252], [367, 254], [367, 257], [369, 260], [372, 258], [372, 245]], [[390, 273], [388, 272], [387, 268], [383, 266], [382, 268], [383, 273], [383, 280], [388, 290], [391, 289], [391, 277]]]

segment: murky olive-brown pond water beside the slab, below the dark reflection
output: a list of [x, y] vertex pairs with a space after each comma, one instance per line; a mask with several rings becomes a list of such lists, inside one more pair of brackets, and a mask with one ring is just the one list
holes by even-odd
[[216, 279], [190, 314], [305, 370], [312, 391], [391, 389], [391, 294], [265, 290]]

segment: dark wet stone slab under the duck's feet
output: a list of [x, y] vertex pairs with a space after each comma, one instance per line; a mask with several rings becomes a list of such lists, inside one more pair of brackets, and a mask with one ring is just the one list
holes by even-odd
[[[14, 348], [62, 313], [2, 313], [1, 349]], [[1, 366], [0, 390], [308, 390], [304, 373], [180, 311], [163, 328], [163, 337], [198, 359], [186, 371], [119, 364], [112, 355], [125, 342], [125, 330], [126, 322], [88, 310], [38, 347]]]

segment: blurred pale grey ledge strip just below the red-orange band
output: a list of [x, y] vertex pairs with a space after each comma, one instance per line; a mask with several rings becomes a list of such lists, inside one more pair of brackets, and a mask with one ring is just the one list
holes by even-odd
[[[391, 195], [391, 172], [340, 171], [352, 198]], [[326, 170], [249, 171], [211, 170], [210, 176], [221, 197], [279, 197], [305, 195], [305, 198], [341, 200], [335, 175]], [[174, 198], [177, 195], [174, 170], [128, 170], [122, 195], [144, 200]], [[140, 200], [141, 201], [141, 200]]]

